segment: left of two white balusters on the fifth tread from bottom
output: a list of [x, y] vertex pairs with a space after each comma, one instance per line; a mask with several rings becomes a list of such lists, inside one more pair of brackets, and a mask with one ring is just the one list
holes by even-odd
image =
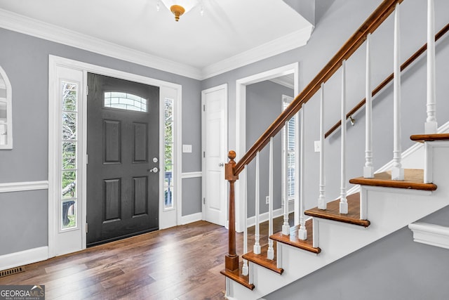
[[363, 167], [363, 177], [373, 178], [373, 97], [371, 96], [371, 34], [366, 36], [366, 84], [365, 84], [365, 167]]

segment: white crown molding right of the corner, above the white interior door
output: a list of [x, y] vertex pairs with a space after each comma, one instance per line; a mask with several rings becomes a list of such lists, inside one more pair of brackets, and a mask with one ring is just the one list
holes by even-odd
[[284, 53], [286, 51], [299, 48], [307, 44], [311, 37], [311, 33], [314, 30], [313, 25], [303, 28], [302, 30], [297, 30], [290, 34], [286, 34], [279, 39], [274, 39], [268, 43], [262, 44], [255, 48], [251, 48], [248, 51], [237, 54], [225, 60], [221, 60], [218, 63], [208, 65], [203, 68], [203, 78], [207, 79], [214, 77], [218, 74], [234, 70], [238, 67], [243, 67], [244, 65], [249, 65], [250, 63], [255, 63], [259, 60], [276, 56], [278, 54]]

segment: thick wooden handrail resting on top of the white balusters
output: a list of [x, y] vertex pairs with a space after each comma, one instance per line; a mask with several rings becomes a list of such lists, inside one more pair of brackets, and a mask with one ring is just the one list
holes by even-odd
[[295, 99], [283, 110], [281, 115], [274, 120], [269, 128], [262, 133], [262, 136], [257, 139], [255, 144], [246, 152], [234, 167], [234, 176], [240, 174], [246, 164], [249, 164], [254, 159], [257, 152], [262, 150], [269, 142], [272, 136], [276, 136], [284, 124], [291, 119], [301, 108], [302, 104], [307, 103], [308, 100], [316, 91], [319, 91], [322, 83], [328, 81], [332, 75], [342, 65], [343, 60], [347, 60], [352, 53], [366, 40], [368, 33], [373, 33], [385, 19], [394, 11], [396, 4], [401, 4], [403, 0], [384, 0], [373, 13], [366, 19], [365, 22], [358, 27], [358, 30], [347, 40], [347, 42], [340, 48], [340, 50], [330, 59], [325, 67], [316, 75], [312, 81], [299, 93]]

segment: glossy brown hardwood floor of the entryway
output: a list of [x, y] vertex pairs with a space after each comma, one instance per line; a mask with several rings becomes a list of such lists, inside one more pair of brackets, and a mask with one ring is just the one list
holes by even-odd
[[[293, 216], [290, 216], [290, 221]], [[274, 232], [282, 219], [274, 221]], [[253, 244], [254, 227], [248, 228]], [[260, 226], [267, 243], [267, 222]], [[145, 233], [25, 266], [0, 285], [45, 285], [46, 299], [225, 299], [228, 231], [206, 221]], [[243, 254], [243, 235], [236, 235]], [[249, 246], [248, 249], [252, 249]]]

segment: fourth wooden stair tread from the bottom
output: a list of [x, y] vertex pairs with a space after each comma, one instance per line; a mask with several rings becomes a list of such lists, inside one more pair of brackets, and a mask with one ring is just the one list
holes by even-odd
[[304, 211], [304, 214], [363, 227], [370, 226], [370, 221], [360, 219], [360, 193], [348, 195], [346, 199], [348, 202], [347, 214], [340, 214], [340, 199], [328, 202], [326, 209], [314, 207]]

